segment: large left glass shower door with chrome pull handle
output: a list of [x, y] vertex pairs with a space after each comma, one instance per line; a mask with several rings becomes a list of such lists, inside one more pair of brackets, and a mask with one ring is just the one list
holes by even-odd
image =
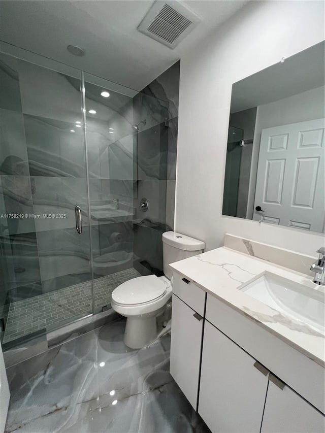
[[3, 54], [0, 60], [6, 347], [91, 314], [92, 291], [80, 80]]

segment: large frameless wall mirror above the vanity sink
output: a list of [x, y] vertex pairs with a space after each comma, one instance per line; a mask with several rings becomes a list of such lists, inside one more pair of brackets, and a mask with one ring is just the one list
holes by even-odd
[[233, 84], [222, 214], [324, 231], [324, 42]]

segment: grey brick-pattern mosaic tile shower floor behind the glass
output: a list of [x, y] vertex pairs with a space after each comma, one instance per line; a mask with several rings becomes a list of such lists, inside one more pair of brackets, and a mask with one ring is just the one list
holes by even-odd
[[[134, 268], [94, 279], [95, 312], [111, 304], [112, 291], [125, 281], [140, 277]], [[10, 304], [3, 344], [32, 332], [58, 326], [92, 313], [91, 281], [74, 284]]]

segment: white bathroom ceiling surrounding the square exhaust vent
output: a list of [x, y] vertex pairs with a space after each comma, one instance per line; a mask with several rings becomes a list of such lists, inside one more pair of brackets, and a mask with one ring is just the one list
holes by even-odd
[[[158, 0], [160, 1], [160, 0]], [[202, 22], [174, 49], [137, 30], [151, 0], [0, 1], [0, 39], [135, 90], [142, 90], [247, 0], [187, 0]], [[82, 47], [76, 57], [69, 44]]]

